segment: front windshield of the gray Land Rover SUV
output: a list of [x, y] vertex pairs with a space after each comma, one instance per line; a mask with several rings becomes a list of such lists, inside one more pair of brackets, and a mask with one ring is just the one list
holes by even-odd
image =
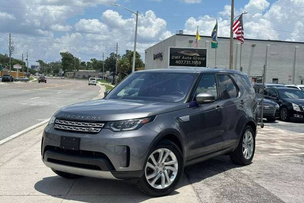
[[178, 102], [186, 97], [197, 76], [195, 73], [135, 73], [106, 98]]

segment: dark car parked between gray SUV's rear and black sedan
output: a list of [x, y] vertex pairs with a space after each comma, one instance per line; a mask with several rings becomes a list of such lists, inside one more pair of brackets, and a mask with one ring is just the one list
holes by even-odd
[[[261, 114], [261, 98], [257, 99], [257, 111]], [[264, 98], [263, 100], [263, 118], [269, 122], [274, 122], [280, 118], [280, 106], [272, 100]]]

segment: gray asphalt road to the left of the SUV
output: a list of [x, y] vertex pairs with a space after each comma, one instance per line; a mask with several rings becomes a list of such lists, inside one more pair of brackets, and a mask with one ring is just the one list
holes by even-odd
[[91, 100], [100, 86], [86, 80], [0, 83], [0, 140], [50, 118], [60, 108]]

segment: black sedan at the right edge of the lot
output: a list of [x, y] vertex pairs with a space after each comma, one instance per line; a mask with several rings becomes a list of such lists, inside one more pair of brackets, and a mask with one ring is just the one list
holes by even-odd
[[264, 90], [264, 97], [280, 106], [280, 119], [304, 120], [304, 92], [288, 87], [271, 87]]

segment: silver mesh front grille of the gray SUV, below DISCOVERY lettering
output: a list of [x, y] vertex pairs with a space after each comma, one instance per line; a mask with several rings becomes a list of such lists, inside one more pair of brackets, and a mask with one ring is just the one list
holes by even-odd
[[98, 133], [100, 132], [103, 126], [104, 123], [79, 122], [79, 121], [56, 119], [54, 128], [59, 130]]

